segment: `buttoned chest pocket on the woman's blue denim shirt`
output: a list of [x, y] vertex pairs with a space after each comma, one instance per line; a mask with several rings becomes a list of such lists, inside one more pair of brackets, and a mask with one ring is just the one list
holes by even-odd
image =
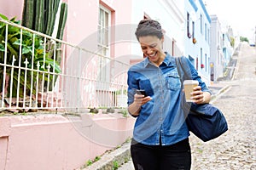
[[166, 88], [170, 90], [177, 90], [181, 88], [181, 82], [177, 72], [170, 72], [166, 74]]

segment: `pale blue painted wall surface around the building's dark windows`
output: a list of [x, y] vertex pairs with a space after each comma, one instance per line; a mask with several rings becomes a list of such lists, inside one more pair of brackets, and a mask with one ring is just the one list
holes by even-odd
[[[185, 25], [185, 32], [184, 32], [184, 38], [185, 38], [185, 51], [184, 55], [186, 57], [191, 57], [195, 60], [195, 67], [196, 67], [196, 58], [198, 58], [198, 72], [201, 76], [202, 80], [206, 82], [207, 84], [210, 83], [210, 21], [207, 20], [207, 14], [203, 10], [203, 7], [201, 6], [201, 0], [195, 1], [195, 8], [189, 3], [189, 1], [185, 1], [185, 10], [184, 10], [184, 16], [187, 20], [187, 13], [189, 13], [190, 17], [190, 25], [192, 25], [192, 21], [195, 22], [195, 39], [196, 43], [192, 42], [192, 37], [189, 38], [187, 36], [187, 23]], [[202, 32], [201, 32], [201, 16], [202, 16]], [[207, 25], [207, 40], [205, 35], [205, 24]], [[191, 26], [192, 28], [192, 26]], [[206, 56], [207, 55], [207, 59]], [[201, 68], [201, 64], [203, 64], [205, 67]], [[207, 68], [207, 69], [206, 69]]]

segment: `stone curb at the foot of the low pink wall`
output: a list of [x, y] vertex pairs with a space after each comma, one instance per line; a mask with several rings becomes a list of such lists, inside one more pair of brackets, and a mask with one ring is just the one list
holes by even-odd
[[125, 142], [118, 149], [112, 150], [109, 153], [102, 155], [99, 161], [94, 162], [88, 167], [81, 168], [82, 170], [113, 170], [114, 164], [118, 166], [129, 161], [131, 158], [130, 152], [131, 142]]

